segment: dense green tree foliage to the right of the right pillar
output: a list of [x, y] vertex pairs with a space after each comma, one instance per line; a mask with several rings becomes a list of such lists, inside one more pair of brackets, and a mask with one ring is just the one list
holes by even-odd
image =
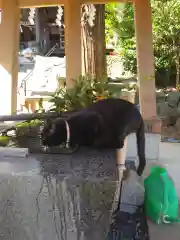
[[[180, 2], [153, 0], [154, 49], [161, 53], [165, 67], [175, 66], [176, 86], [180, 81]], [[158, 65], [158, 59], [156, 60]]]

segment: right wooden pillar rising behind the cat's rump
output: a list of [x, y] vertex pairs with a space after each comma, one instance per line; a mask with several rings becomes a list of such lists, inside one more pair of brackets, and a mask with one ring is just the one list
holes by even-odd
[[152, 131], [161, 130], [156, 115], [156, 87], [150, 0], [134, 0], [139, 102], [142, 116], [152, 120]]

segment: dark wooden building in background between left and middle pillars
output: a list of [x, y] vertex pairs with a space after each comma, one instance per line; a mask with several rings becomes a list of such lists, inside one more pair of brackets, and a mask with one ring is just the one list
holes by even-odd
[[55, 45], [52, 55], [64, 56], [64, 14], [62, 7], [60, 26], [56, 23], [58, 7], [34, 9], [34, 16], [29, 20], [31, 9], [21, 9], [20, 48], [31, 47], [45, 55]]

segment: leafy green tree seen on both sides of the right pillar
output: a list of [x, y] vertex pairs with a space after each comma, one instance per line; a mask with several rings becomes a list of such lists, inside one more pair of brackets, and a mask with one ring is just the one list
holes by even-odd
[[[166, 77], [170, 81], [175, 72], [176, 85], [178, 85], [180, 78], [180, 2], [176, 0], [152, 0], [151, 5], [156, 80], [159, 80], [160, 76], [163, 80]], [[116, 31], [116, 29], [114, 30]], [[134, 9], [131, 3], [126, 3], [122, 10], [118, 36], [124, 68], [136, 74]]]

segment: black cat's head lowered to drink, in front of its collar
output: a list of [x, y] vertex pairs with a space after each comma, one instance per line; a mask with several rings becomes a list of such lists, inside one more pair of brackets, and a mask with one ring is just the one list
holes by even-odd
[[58, 146], [66, 142], [66, 125], [62, 119], [48, 119], [41, 131], [41, 141], [44, 146]]

